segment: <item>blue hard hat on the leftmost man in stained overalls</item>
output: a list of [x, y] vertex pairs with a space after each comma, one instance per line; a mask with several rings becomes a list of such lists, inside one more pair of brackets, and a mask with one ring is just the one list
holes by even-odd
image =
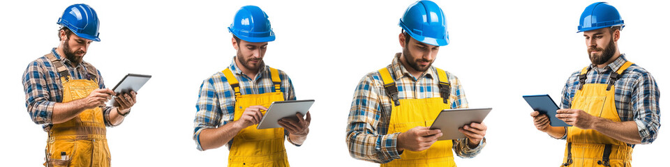
[[68, 27], [70, 31], [81, 38], [100, 42], [98, 38], [98, 27], [100, 21], [96, 10], [86, 4], [74, 4], [68, 6], [63, 12], [63, 16], [58, 19], [58, 24]]

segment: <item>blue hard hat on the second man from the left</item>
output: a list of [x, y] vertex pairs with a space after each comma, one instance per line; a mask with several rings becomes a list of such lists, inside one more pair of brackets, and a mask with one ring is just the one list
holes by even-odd
[[267, 15], [258, 6], [242, 6], [235, 13], [235, 19], [228, 31], [237, 38], [248, 42], [270, 42], [274, 32]]

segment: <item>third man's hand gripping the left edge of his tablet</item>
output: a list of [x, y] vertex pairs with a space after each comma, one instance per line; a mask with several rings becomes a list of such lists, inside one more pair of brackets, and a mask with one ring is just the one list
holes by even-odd
[[440, 129], [429, 127], [414, 127], [398, 135], [398, 151], [410, 150], [414, 152], [431, 148], [431, 145], [442, 136]]

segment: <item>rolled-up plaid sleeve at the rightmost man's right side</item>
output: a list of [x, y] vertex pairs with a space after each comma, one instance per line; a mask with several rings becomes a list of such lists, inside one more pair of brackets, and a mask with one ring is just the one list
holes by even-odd
[[655, 79], [649, 73], [643, 73], [631, 93], [634, 121], [642, 139], [642, 144], [656, 140], [660, 124], [660, 91]]

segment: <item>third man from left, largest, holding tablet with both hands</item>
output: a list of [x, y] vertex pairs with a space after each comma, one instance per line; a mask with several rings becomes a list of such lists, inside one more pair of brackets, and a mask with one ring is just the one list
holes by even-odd
[[450, 149], [459, 157], [479, 154], [486, 125], [465, 125], [459, 131], [467, 138], [454, 141], [438, 141], [442, 132], [428, 127], [443, 109], [468, 108], [459, 79], [431, 65], [440, 46], [449, 43], [445, 15], [434, 2], [417, 1], [405, 10], [400, 26], [403, 52], [356, 88], [349, 152], [381, 166], [456, 166]]

